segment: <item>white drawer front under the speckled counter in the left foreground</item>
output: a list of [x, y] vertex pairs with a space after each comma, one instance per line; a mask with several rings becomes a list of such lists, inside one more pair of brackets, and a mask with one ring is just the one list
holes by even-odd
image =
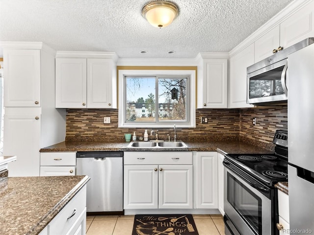
[[[86, 207], [86, 186], [49, 223], [50, 235], [67, 234]], [[73, 215], [74, 214], [74, 215]]]

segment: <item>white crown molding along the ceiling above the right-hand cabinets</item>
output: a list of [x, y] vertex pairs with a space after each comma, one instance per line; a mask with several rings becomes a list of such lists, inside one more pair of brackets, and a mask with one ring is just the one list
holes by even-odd
[[300, 10], [300, 8], [309, 4], [313, 0], [294, 0], [288, 6], [286, 6], [282, 11], [273, 16], [269, 21], [263, 24], [260, 28], [258, 28], [255, 32], [253, 32], [250, 36], [244, 39], [240, 44], [234, 47], [229, 55], [234, 56], [237, 52], [254, 43], [258, 38], [262, 37], [264, 34], [272, 30], [274, 27], [280, 25], [283, 21], [288, 19], [295, 12]]

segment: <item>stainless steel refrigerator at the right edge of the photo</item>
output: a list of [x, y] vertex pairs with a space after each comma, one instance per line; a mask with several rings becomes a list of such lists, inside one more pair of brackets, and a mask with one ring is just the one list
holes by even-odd
[[314, 44], [288, 56], [290, 235], [314, 233]]

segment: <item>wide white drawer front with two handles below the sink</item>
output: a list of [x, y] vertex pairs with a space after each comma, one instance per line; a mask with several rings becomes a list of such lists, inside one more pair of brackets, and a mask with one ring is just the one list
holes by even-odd
[[124, 152], [125, 165], [191, 165], [192, 152]]

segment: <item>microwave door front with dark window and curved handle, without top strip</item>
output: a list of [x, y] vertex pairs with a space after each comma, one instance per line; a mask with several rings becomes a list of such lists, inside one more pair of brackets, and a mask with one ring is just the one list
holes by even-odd
[[247, 103], [286, 101], [288, 59], [247, 74]]

